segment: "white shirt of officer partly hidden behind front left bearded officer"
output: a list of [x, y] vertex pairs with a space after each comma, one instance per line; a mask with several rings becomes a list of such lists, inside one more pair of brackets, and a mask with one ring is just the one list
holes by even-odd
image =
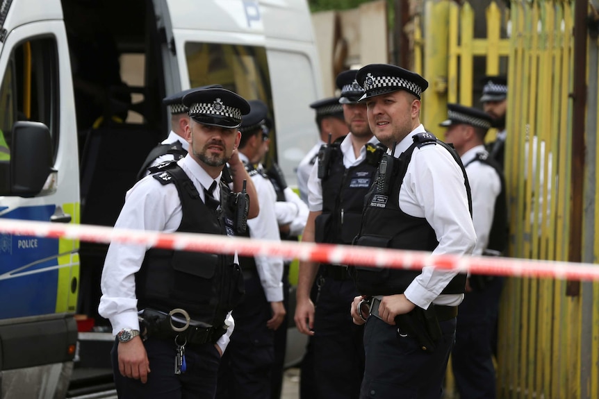
[[[249, 162], [247, 156], [243, 153], [239, 153], [239, 158], [244, 163]], [[260, 212], [254, 219], [247, 220], [249, 237], [281, 242], [279, 223], [277, 223], [277, 216], [274, 214], [277, 193], [274, 192], [270, 180], [261, 173], [254, 174], [252, 182], [256, 187], [256, 194], [258, 194]], [[256, 269], [258, 269], [266, 300], [268, 302], [281, 302], [283, 300], [283, 258], [263, 255], [256, 255], [254, 258], [256, 259]], [[241, 265], [241, 268], [243, 269], [243, 265]]]

